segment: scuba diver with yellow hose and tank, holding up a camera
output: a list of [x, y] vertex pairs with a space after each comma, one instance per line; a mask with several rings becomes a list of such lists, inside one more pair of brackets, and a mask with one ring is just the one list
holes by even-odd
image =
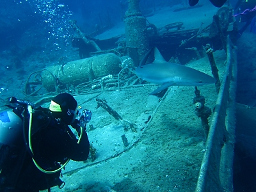
[[[34, 192], [59, 186], [70, 159], [85, 161], [90, 150], [86, 123], [92, 112], [77, 107], [68, 93], [48, 108], [11, 97], [12, 110], [0, 113], [0, 191]], [[76, 129], [79, 139], [71, 131]]]

